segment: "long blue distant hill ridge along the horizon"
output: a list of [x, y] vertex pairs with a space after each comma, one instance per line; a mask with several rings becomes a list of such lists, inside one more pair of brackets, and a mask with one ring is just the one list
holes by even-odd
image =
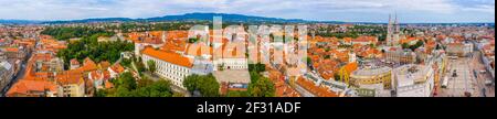
[[159, 21], [212, 21], [213, 17], [222, 17], [223, 22], [247, 22], [247, 23], [310, 23], [310, 22], [326, 22], [326, 23], [345, 23], [338, 21], [307, 21], [302, 19], [281, 19], [281, 18], [265, 18], [252, 17], [243, 14], [228, 14], [228, 13], [186, 13], [181, 15], [165, 15], [146, 19], [129, 19], [129, 18], [98, 18], [84, 20], [66, 20], [66, 21], [27, 21], [27, 20], [0, 20], [0, 23], [40, 23], [40, 24], [62, 24], [62, 23], [92, 23], [92, 22], [159, 22]]

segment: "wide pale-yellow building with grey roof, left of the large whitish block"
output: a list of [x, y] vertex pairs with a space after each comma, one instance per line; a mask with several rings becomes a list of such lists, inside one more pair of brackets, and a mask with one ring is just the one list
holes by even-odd
[[390, 67], [357, 69], [350, 75], [350, 85], [358, 88], [391, 89], [391, 84]]

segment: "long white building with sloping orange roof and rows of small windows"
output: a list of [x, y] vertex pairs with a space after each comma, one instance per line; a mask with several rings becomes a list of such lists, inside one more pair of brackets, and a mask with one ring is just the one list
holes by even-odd
[[191, 74], [193, 67], [190, 58], [176, 53], [163, 52], [152, 47], [145, 47], [142, 53], [142, 62], [147, 66], [148, 61], [156, 62], [155, 74], [162, 78], [169, 79], [172, 85], [186, 88], [183, 79]]

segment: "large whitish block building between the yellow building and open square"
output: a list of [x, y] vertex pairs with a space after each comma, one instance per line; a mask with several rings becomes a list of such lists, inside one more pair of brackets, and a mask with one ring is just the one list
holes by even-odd
[[430, 97], [434, 88], [434, 71], [424, 65], [404, 65], [393, 71], [396, 97]]

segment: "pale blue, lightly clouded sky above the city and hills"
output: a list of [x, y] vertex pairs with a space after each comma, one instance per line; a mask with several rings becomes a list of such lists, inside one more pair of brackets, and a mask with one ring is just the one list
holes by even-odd
[[0, 19], [150, 18], [190, 12], [320, 21], [494, 22], [495, 0], [0, 0]]

